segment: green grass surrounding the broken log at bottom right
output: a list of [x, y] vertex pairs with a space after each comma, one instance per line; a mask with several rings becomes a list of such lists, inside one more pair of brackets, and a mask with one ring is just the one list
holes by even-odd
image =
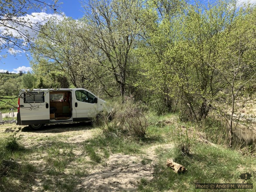
[[[201, 143], [194, 145], [192, 154], [188, 156], [184, 156], [178, 149], [160, 150], [158, 153], [159, 163], [154, 167], [154, 178], [147, 185], [140, 184], [140, 191], [197, 191], [195, 183], [242, 183], [240, 174], [256, 174], [255, 158], [243, 157], [237, 151], [222, 147]], [[175, 173], [166, 167], [167, 158], [173, 158], [187, 171], [183, 174]], [[247, 183], [255, 185], [256, 178], [251, 178]]]

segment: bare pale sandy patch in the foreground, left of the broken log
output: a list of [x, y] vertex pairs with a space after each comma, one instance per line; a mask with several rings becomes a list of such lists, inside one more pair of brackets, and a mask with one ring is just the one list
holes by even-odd
[[140, 178], [153, 179], [153, 165], [157, 155], [155, 149], [171, 149], [173, 144], [156, 145], [146, 150], [146, 158], [152, 161], [143, 165], [142, 157], [137, 155], [113, 154], [106, 161], [104, 170], [88, 175], [76, 186], [85, 191], [136, 191]]

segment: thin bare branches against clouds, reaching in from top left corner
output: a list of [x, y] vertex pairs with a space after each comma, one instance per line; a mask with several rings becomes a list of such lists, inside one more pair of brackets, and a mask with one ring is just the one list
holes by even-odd
[[[38, 0], [1, 1], [0, 50], [28, 50], [34, 38], [31, 36], [31, 32], [39, 33], [42, 23], [32, 22], [27, 16], [28, 12], [45, 8], [55, 12], [57, 6], [56, 0], [52, 1], [52, 4]], [[48, 18], [44, 19], [47, 20]]]

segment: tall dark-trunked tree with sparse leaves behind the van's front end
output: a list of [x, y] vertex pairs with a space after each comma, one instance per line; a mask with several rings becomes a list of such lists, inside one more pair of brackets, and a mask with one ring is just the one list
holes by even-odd
[[124, 97], [131, 51], [141, 29], [142, 3], [138, 0], [89, 0], [84, 2], [84, 7], [87, 35], [79, 36], [84, 39], [94, 64], [89, 67], [98, 79], [106, 72], [110, 74], [119, 87], [119, 94]]

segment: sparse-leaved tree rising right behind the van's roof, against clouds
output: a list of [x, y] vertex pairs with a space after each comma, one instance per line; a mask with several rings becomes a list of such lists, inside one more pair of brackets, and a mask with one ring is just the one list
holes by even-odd
[[[63, 21], [49, 20], [31, 50], [34, 72], [47, 75], [50, 72], [64, 72], [74, 87], [84, 87], [91, 81], [89, 73], [83, 73], [87, 62], [81, 39], [75, 34], [81, 21], [64, 18]], [[47, 34], [47, 35], [46, 35]], [[86, 75], [85, 75], [86, 74]]]

